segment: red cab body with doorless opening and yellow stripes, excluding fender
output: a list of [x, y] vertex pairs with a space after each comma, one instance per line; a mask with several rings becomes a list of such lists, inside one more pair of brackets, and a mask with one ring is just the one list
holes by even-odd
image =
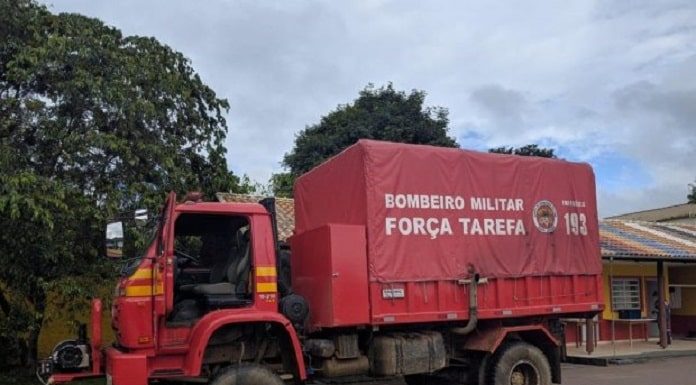
[[[276, 311], [275, 246], [260, 204], [186, 201], [172, 204], [161, 222], [118, 283], [113, 326], [121, 346], [172, 345], [168, 329], [181, 339], [183, 330], [215, 310]], [[144, 308], [152, 309], [152, 320], [127, 322], [131, 312], [143, 318]], [[152, 325], [149, 333], [145, 325]]]

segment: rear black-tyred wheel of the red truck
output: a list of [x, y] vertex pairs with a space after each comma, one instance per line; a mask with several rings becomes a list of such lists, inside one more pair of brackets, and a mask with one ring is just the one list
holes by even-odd
[[525, 342], [502, 346], [488, 368], [488, 385], [551, 385], [551, 367], [546, 356]]

